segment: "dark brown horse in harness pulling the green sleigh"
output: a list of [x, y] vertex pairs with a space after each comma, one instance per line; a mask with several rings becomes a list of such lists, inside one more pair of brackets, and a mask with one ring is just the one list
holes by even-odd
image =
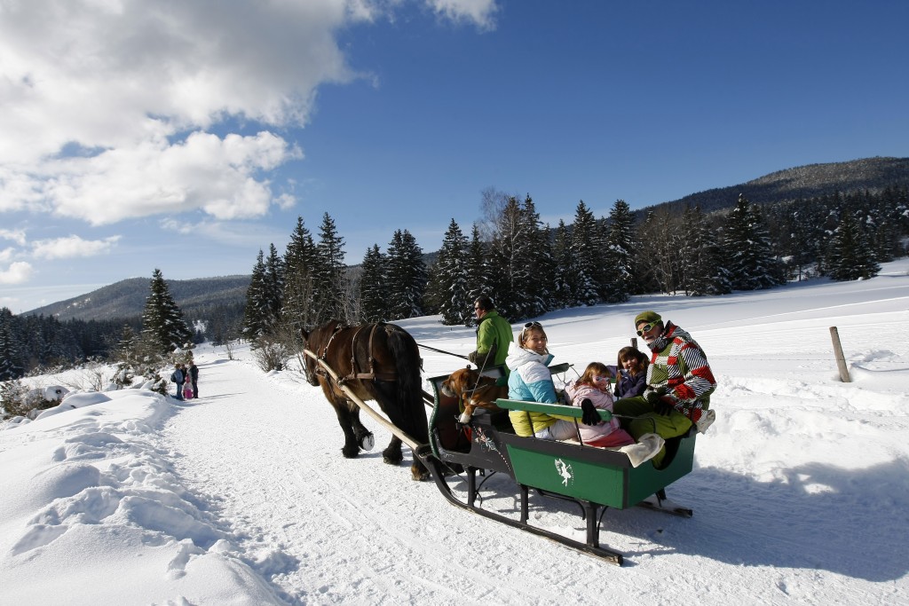
[[[322, 385], [325, 398], [335, 408], [345, 435], [341, 452], [348, 459], [360, 449], [373, 446], [373, 434], [360, 422], [360, 407], [351, 402], [338, 383], [364, 402], [375, 400], [388, 420], [417, 442], [429, 442], [423, 385], [422, 361], [414, 337], [395, 324], [375, 323], [346, 326], [332, 320], [312, 332], [303, 333], [305, 348], [325, 361], [337, 381], [310, 356], [306, 359], [306, 378]], [[403, 461], [401, 439], [392, 435], [382, 452], [383, 460], [397, 465]], [[411, 474], [425, 480], [429, 472], [414, 455]]]

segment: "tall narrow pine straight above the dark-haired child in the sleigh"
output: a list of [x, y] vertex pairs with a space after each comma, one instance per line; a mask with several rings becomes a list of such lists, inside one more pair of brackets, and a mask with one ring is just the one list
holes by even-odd
[[607, 303], [624, 303], [634, 288], [634, 215], [624, 200], [616, 200], [609, 212], [608, 233], [602, 254], [604, 276], [600, 295]]

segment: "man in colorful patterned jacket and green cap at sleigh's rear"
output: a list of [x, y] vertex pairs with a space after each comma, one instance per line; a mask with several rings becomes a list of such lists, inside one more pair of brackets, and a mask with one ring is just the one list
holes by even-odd
[[[634, 327], [647, 343], [651, 359], [644, 394], [615, 402], [616, 414], [635, 417], [623, 420], [623, 428], [635, 440], [654, 431], [664, 439], [674, 438], [687, 433], [693, 423], [705, 432], [714, 421], [708, 409], [716, 380], [704, 350], [691, 334], [672, 322], [664, 323], [655, 312], [638, 313]], [[663, 457], [664, 452], [654, 457], [656, 467]]]

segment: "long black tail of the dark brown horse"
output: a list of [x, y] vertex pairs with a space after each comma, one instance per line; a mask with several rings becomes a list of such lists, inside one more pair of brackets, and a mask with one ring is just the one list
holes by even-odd
[[401, 412], [410, 422], [410, 427], [402, 427], [405, 432], [420, 442], [429, 441], [429, 430], [426, 422], [426, 409], [423, 403], [423, 384], [421, 371], [423, 361], [420, 359], [420, 348], [414, 337], [400, 326], [386, 324], [388, 349], [395, 357], [397, 372], [397, 401]]

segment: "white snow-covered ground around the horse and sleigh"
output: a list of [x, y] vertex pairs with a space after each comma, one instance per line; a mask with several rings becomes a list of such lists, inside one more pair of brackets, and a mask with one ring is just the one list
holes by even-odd
[[[622, 568], [452, 507], [410, 480], [406, 449], [382, 462], [389, 435], [368, 418], [375, 450], [342, 458], [334, 412], [299, 373], [203, 346], [199, 400], [81, 393], [0, 431], [0, 603], [909, 603], [907, 270], [540, 318], [555, 362], [583, 367], [614, 363], [634, 314], [654, 309], [720, 384], [694, 472], [669, 488], [694, 517], [606, 513]], [[473, 349], [471, 329], [401, 324]], [[425, 377], [461, 364], [424, 353]], [[565, 503], [531, 514], [584, 537]]]

